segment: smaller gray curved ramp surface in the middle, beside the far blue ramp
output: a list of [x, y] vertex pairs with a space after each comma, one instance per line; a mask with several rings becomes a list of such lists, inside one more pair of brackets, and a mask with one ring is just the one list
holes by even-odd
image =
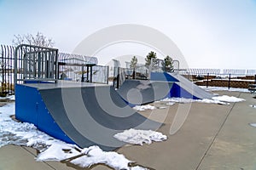
[[117, 92], [131, 105], [144, 105], [169, 97], [172, 84], [173, 82], [125, 80]]

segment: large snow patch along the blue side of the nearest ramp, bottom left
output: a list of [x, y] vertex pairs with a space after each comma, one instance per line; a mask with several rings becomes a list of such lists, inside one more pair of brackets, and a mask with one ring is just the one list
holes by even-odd
[[15, 104], [0, 107], [0, 147], [6, 144], [26, 145], [39, 150], [37, 161], [69, 161], [79, 167], [90, 167], [103, 163], [113, 169], [145, 170], [144, 167], [129, 167], [125, 156], [103, 151], [98, 146], [81, 149], [75, 144], [67, 144], [43, 133], [31, 123], [15, 122], [10, 116], [15, 114]]

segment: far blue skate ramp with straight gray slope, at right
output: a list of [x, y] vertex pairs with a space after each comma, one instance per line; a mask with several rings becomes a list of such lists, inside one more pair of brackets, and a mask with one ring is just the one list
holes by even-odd
[[190, 82], [189, 79], [179, 75], [178, 73], [168, 72], [152, 72], [151, 80], [153, 81], [173, 81], [172, 90], [170, 92], [171, 97], [182, 97], [189, 99], [212, 99], [213, 94], [208, 93], [204, 89]]

